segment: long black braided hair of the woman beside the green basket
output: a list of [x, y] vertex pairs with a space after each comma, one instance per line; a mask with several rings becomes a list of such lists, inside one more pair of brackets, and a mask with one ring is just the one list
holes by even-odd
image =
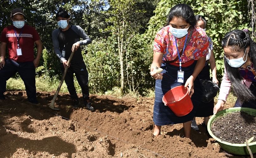
[[[247, 47], [250, 47], [248, 57], [253, 62], [254, 67], [256, 66], [256, 44], [250, 38], [247, 31], [233, 30], [225, 34], [222, 39], [222, 48], [230, 47], [232, 51], [245, 52]], [[237, 98], [241, 101], [249, 101], [256, 99], [249, 88], [243, 84], [243, 78], [239, 73], [238, 68], [229, 66], [226, 58], [224, 58], [225, 67], [228, 73], [228, 77], [233, 86], [233, 90]]]

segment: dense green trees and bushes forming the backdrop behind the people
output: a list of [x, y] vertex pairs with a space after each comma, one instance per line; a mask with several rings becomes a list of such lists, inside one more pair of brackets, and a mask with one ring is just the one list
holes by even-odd
[[58, 28], [56, 12], [66, 9], [71, 23], [81, 26], [93, 39], [92, 44], [82, 49], [90, 73], [91, 91], [105, 92], [122, 87], [123, 93], [144, 94], [154, 86], [149, 75], [154, 36], [165, 25], [170, 8], [178, 3], [188, 4], [195, 14], [206, 17], [206, 32], [214, 42], [220, 80], [224, 69], [221, 39], [229, 30], [249, 26], [247, 0], [3, 0], [0, 32], [12, 24], [11, 9], [23, 9], [26, 23], [36, 28], [44, 47], [37, 74], [60, 78], [51, 33]]

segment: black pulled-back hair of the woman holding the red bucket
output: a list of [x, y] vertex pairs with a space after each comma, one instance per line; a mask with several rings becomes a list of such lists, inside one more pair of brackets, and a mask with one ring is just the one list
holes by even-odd
[[194, 12], [187, 4], [177, 4], [170, 10], [167, 16], [167, 25], [170, 25], [173, 17], [183, 18], [190, 26], [194, 27], [197, 23]]

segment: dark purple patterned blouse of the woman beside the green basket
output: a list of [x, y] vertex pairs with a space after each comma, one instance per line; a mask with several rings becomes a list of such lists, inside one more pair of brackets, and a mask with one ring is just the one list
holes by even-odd
[[256, 82], [256, 72], [253, 63], [248, 65], [246, 68], [239, 67], [238, 70], [244, 79], [251, 82]]

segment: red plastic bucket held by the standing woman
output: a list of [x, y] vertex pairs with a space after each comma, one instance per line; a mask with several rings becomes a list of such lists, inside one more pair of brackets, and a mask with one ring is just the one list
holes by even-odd
[[176, 116], [185, 116], [193, 109], [189, 89], [185, 89], [184, 85], [179, 85], [167, 91], [162, 101]]

